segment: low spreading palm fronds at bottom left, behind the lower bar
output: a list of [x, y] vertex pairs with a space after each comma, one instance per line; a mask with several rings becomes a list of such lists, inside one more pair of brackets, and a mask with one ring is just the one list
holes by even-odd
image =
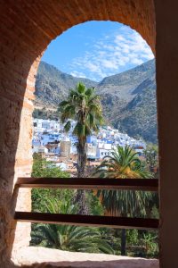
[[[54, 214], [76, 214], [77, 207], [69, 202], [45, 199], [45, 212]], [[32, 227], [33, 246], [52, 247], [61, 250], [113, 254], [106, 239], [101, 238], [97, 228], [56, 224], [36, 224]]]

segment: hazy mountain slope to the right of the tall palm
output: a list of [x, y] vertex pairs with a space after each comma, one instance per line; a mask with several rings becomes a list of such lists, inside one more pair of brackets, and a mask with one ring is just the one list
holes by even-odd
[[158, 142], [155, 61], [105, 78], [97, 85], [104, 115], [131, 137]]

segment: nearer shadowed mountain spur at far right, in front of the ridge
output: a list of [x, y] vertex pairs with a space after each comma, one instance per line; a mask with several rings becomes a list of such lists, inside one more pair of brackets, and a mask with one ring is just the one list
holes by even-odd
[[156, 84], [155, 80], [147, 82], [145, 88], [142, 87], [145, 83], [142, 83], [142, 92], [125, 105], [113, 123], [133, 137], [140, 135], [146, 141], [157, 143]]

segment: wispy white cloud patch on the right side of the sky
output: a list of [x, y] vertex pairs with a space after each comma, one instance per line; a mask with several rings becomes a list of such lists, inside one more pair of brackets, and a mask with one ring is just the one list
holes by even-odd
[[87, 49], [70, 63], [72, 75], [101, 80], [154, 58], [145, 40], [127, 26], [95, 40]]

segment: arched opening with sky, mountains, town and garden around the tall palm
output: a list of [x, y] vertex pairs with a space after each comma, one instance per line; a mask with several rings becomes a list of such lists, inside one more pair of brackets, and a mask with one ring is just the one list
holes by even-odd
[[[69, 118], [71, 130], [66, 132], [65, 124], [60, 120], [59, 104], [67, 100], [70, 89], [76, 88], [78, 82], [85, 84], [86, 88], [96, 88], [96, 94], [99, 94], [101, 99], [104, 118], [100, 130], [92, 131], [86, 137], [88, 161], [85, 177], [93, 177], [94, 171], [99, 170], [103, 161], [113, 157], [113, 152], [117, 152], [117, 156], [119, 154], [122, 156], [128, 154], [130, 149], [128, 157], [134, 157], [132, 155], [136, 154], [135, 163], [139, 161], [141, 167], [137, 171], [134, 162], [128, 163], [127, 168], [122, 165], [119, 167], [121, 163], [117, 163], [118, 170], [119, 168], [128, 170], [130, 166], [134, 166], [133, 170], [132, 168], [129, 170], [130, 173], [120, 173], [120, 178], [129, 179], [129, 175], [131, 178], [158, 178], [154, 55], [136, 31], [111, 21], [90, 21], [77, 25], [56, 38], [45, 51], [36, 75], [36, 100], [33, 113], [36, 126], [33, 136], [32, 176], [51, 177], [53, 174], [53, 177], [59, 178], [77, 177], [78, 137], [74, 134], [75, 116]], [[40, 174], [39, 166], [42, 163], [44, 171]], [[107, 171], [109, 167], [106, 165], [104, 169]], [[97, 176], [100, 177], [101, 174], [103, 175], [103, 171], [98, 172]], [[104, 176], [109, 178], [109, 173]], [[114, 178], [113, 176], [111, 175], [110, 178]], [[116, 176], [118, 176], [117, 172]], [[102, 193], [98, 191], [96, 194], [90, 191], [82, 201], [77, 193], [81, 197], [84, 191], [56, 190], [50, 191], [49, 195], [48, 190], [46, 192], [46, 190], [34, 189], [32, 191], [33, 210], [62, 214], [112, 216], [120, 214], [158, 218], [158, 196], [151, 195], [149, 192], [142, 194], [130, 190], [105, 190]], [[104, 202], [101, 202], [101, 199], [102, 201], [105, 199]], [[83, 210], [78, 209], [78, 202], [85, 203]], [[55, 207], [54, 210], [51, 203]], [[46, 232], [61, 231], [61, 238], [66, 235], [61, 227], [59, 230], [58, 227], [54, 227], [53, 230], [53, 226], [44, 225], [43, 228]], [[57, 245], [58, 241], [49, 241], [48, 232], [44, 238], [36, 240], [38, 234], [42, 232], [38, 224], [34, 225], [32, 230], [32, 246], [44, 245], [44, 247], [83, 251], [83, 248], [77, 248], [70, 243], [64, 247], [62, 244]], [[78, 231], [81, 231], [80, 228]], [[88, 230], [83, 228], [82, 231], [85, 233]], [[100, 233], [101, 239], [109, 237], [104, 247], [109, 254], [126, 255], [130, 250], [129, 254], [134, 256], [158, 257], [157, 231], [124, 229], [113, 230], [113, 232], [113, 235], [109, 230]], [[72, 230], [69, 230], [69, 235], [71, 233]], [[113, 239], [117, 241], [119, 247], [115, 247], [115, 244], [110, 247], [110, 241]], [[150, 246], [145, 250], [147, 239], [150, 239]], [[100, 243], [99, 238], [98, 240]], [[134, 247], [133, 241], [138, 247]], [[92, 246], [91, 243], [85, 251], [90, 251]], [[95, 253], [99, 252], [102, 252], [100, 245]]]

